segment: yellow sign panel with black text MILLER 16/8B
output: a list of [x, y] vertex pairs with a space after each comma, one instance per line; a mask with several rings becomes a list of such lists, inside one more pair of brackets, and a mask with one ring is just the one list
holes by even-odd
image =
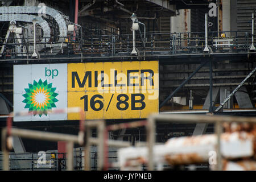
[[158, 80], [158, 61], [71, 63], [68, 107], [83, 108], [86, 119], [147, 118], [158, 113]]

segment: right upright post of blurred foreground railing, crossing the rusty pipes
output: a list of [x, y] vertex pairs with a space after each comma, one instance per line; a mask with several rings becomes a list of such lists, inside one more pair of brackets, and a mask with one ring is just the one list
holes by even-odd
[[217, 121], [215, 124], [215, 134], [217, 136], [217, 146], [216, 146], [216, 154], [217, 154], [217, 171], [222, 170], [222, 156], [221, 156], [221, 133], [222, 133], [222, 127], [221, 127], [221, 121]]

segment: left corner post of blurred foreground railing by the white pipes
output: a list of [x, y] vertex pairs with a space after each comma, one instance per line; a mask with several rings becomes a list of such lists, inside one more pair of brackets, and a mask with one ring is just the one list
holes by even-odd
[[148, 170], [154, 170], [154, 144], [155, 144], [155, 119], [148, 118], [147, 123], [147, 147], [148, 147]]

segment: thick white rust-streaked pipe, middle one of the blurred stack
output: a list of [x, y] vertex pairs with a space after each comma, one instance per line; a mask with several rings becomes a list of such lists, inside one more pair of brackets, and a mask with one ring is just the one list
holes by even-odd
[[[246, 128], [247, 126], [244, 125]], [[225, 159], [251, 158], [254, 153], [253, 134], [240, 131], [221, 134], [221, 155]], [[170, 165], [208, 163], [209, 152], [216, 151], [216, 134], [169, 139], [165, 144], [154, 146], [154, 163]], [[138, 161], [148, 163], [147, 147], [129, 147], [118, 151], [119, 164], [127, 167]], [[134, 160], [140, 159], [140, 160]]]

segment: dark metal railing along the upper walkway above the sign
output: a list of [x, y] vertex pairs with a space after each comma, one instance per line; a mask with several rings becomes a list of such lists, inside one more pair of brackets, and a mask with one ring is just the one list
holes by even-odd
[[[208, 46], [213, 53], [217, 52], [248, 52], [251, 45], [251, 32], [226, 31], [225, 38], [218, 36], [220, 32], [208, 32]], [[37, 40], [47, 39], [37, 36]], [[40, 57], [113, 57], [113, 56], [157, 56], [203, 53], [205, 47], [205, 32], [180, 32], [180, 33], [151, 33], [146, 32], [143, 45], [139, 35], [135, 39], [135, 47], [138, 55], [131, 55], [133, 49], [132, 34], [125, 35], [97, 35], [83, 36], [82, 39], [73, 36], [65, 37], [65, 42], [37, 41], [36, 45]], [[28, 40], [28, 41], [27, 41]], [[225, 42], [229, 42], [226, 44]], [[33, 53], [29, 46], [33, 46], [32, 38], [22, 39], [22, 43], [16, 43], [16, 38], [0, 40], [0, 47], [6, 46], [2, 59], [20, 57], [31, 58]], [[217, 46], [216, 46], [217, 44]], [[145, 46], [145, 47], [144, 47]], [[15, 52], [20, 47], [21, 51]]]

